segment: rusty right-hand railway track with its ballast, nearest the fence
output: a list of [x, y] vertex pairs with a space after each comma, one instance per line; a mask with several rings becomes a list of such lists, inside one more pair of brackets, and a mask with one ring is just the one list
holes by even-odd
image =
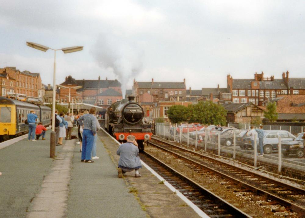
[[[212, 178], [216, 183], [223, 184], [220, 189], [223, 188], [224, 192], [240, 194], [244, 199], [248, 199], [249, 204], [256, 204], [262, 208], [268, 208], [269, 206], [274, 216], [305, 217], [305, 190], [301, 188], [284, 184], [157, 139], [150, 141], [149, 145], [157, 149], [157, 151], [152, 152], [157, 156], [162, 154], [164, 157], [166, 153], [165, 159], [175, 160], [179, 165], [186, 166], [192, 171], [191, 177], [196, 174], [199, 177]], [[162, 152], [160, 152], [160, 149]], [[204, 183], [201, 184], [205, 185]], [[224, 193], [222, 194], [224, 195]], [[234, 203], [240, 204], [238, 202]], [[272, 214], [270, 215], [272, 217]]]

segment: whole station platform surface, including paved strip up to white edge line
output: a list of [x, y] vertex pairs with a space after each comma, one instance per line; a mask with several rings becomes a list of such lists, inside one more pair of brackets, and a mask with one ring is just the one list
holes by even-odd
[[77, 139], [49, 158], [50, 130], [0, 146], [0, 217], [200, 217], [145, 167], [118, 178], [119, 145], [98, 135], [94, 163], [81, 162]]

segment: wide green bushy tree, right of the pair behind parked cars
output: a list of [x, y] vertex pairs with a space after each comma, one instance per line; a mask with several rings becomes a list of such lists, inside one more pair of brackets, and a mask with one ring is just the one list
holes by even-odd
[[199, 101], [198, 104], [188, 105], [190, 122], [225, 125], [227, 112], [222, 105], [212, 101]]

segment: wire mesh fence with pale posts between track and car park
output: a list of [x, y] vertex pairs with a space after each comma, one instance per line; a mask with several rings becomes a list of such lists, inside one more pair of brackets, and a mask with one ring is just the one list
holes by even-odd
[[[281, 129], [289, 131], [291, 128], [292, 127], [287, 130], [287, 127], [283, 128], [282, 126]], [[303, 130], [304, 128], [300, 127], [298, 131], [300, 133], [303, 132]], [[195, 149], [204, 149], [207, 152], [213, 152], [219, 156], [226, 156], [233, 159], [236, 159], [237, 157], [246, 157], [253, 160], [254, 167], [257, 167], [258, 161], [264, 161], [273, 165], [278, 165], [278, 172], [282, 171], [282, 167], [292, 168], [297, 171], [305, 171], [305, 155], [302, 155], [302, 153], [304, 154], [304, 147], [301, 145], [303, 142], [296, 142], [293, 138], [288, 141], [281, 138], [281, 136], [270, 138], [270, 140], [273, 140], [273, 143], [271, 144], [273, 147], [268, 147], [268, 149], [271, 149], [271, 153], [261, 156], [257, 135], [255, 135], [253, 146], [252, 143], [248, 141], [247, 148], [242, 149], [236, 142], [238, 135], [235, 135], [235, 133], [231, 136], [233, 142], [231, 146], [226, 146], [223, 140], [221, 141], [221, 131], [217, 131], [217, 136], [210, 135], [207, 131], [205, 131], [204, 134], [202, 134], [202, 132], [201, 134], [198, 134], [197, 132], [198, 131], [195, 131], [195, 134], [193, 132], [193, 134], [190, 135], [187, 128], [181, 129], [177, 125], [169, 125], [166, 123], [156, 123], [155, 126], [155, 135], [160, 138], [182, 143], [186, 146], [194, 147]], [[289, 145], [288, 142], [291, 145]], [[264, 145], [264, 148], [265, 146], [266, 145]], [[268, 149], [266, 151], [270, 151]]]

